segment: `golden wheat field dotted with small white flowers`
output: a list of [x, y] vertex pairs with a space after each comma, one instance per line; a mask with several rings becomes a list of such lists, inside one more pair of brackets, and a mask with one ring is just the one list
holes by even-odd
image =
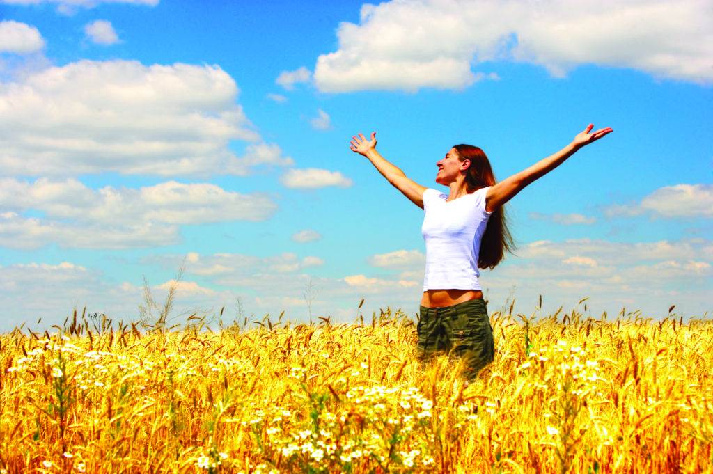
[[[491, 313], [476, 381], [413, 318], [77, 315], [0, 336], [0, 473], [713, 473], [713, 323]], [[215, 326], [215, 325], [214, 325]]]

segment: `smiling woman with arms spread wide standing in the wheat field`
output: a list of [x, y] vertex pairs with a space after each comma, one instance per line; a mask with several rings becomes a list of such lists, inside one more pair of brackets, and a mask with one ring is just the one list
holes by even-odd
[[513, 247], [503, 205], [584, 145], [612, 132], [608, 127], [595, 132], [592, 128], [588, 125], [562, 150], [501, 182], [496, 182], [483, 150], [456, 145], [436, 163], [436, 182], [450, 188], [447, 196], [410, 180], [386, 161], [376, 151], [376, 132], [371, 140], [361, 133], [352, 137], [349, 148], [369, 158], [391, 185], [425, 211], [421, 232], [426, 273], [416, 331], [421, 359], [453, 351], [463, 359], [463, 376], [469, 380], [493, 361], [493, 329], [478, 268], [492, 269]]

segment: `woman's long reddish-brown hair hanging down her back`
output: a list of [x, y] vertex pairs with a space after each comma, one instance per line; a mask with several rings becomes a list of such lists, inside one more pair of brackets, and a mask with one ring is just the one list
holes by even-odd
[[[456, 145], [453, 148], [458, 152], [458, 160], [470, 160], [471, 165], [466, 172], [466, 186], [468, 192], [475, 192], [481, 187], [496, 184], [495, 175], [486, 153], [473, 145]], [[508, 230], [503, 206], [493, 210], [486, 232], [481, 240], [481, 250], [478, 253], [479, 268], [494, 268], [505, 257], [505, 252], [513, 253], [515, 242]]]

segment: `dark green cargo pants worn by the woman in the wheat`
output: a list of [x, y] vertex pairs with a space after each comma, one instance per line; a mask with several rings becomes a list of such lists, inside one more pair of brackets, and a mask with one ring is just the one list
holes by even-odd
[[472, 380], [493, 361], [495, 344], [488, 308], [482, 299], [443, 308], [421, 306], [417, 354], [428, 361], [439, 352], [453, 354], [463, 360], [463, 377]]

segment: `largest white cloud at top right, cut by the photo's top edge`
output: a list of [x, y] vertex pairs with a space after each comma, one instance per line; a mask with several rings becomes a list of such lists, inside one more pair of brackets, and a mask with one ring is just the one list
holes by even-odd
[[705, 0], [393, 0], [339, 25], [317, 58], [320, 91], [465, 88], [484, 61], [518, 61], [564, 76], [580, 64], [713, 82], [713, 9]]

